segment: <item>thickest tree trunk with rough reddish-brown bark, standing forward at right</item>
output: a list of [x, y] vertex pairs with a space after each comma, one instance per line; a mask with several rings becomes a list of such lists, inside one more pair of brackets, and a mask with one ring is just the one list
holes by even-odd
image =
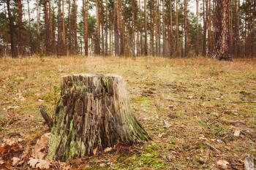
[[219, 60], [231, 60], [229, 52], [229, 16], [230, 15], [230, 0], [217, 0], [216, 7], [216, 39], [213, 58]]

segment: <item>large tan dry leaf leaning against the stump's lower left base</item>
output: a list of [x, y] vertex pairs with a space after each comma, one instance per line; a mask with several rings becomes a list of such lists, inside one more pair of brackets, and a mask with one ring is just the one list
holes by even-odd
[[50, 138], [50, 133], [43, 134], [40, 139], [37, 140], [37, 144], [34, 146], [33, 157], [37, 159], [45, 158], [48, 140]]

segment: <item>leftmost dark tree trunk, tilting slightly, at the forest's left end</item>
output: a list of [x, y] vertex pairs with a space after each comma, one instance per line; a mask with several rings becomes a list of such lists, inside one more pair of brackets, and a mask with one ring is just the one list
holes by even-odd
[[7, 13], [9, 18], [9, 26], [10, 26], [10, 38], [11, 38], [11, 52], [12, 52], [12, 58], [17, 58], [18, 53], [15, 45], [15, 26], [14, 26], [14, 19], [12, 16], [12, 12], [10, 9], [10, 0], [6, 0], [7, 3]]

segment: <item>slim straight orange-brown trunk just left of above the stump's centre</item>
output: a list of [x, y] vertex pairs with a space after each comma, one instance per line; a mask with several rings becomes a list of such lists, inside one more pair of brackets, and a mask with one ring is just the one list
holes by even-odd
[[83, 0], [83, 42], [84, 55], [88, 56], [88, 0]]

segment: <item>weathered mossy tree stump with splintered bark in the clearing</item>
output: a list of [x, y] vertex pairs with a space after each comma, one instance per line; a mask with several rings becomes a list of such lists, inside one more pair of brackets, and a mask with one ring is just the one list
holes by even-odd
[[132, 145], [148, 139], [129, 109], [122, 77], [74, 74], [62, 78], [49, 158], [65, 161], [101, 153], [116, 144]]

